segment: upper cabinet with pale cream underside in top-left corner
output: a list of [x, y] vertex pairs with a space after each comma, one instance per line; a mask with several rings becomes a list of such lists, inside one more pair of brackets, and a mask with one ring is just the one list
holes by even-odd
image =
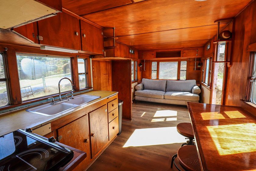
[[[52, 7], [53, 6], [53, 7]], [[0, 28], [9, 29], [56, 15], [62, 10], [61, 1], [8, 0], [1, 1]]]

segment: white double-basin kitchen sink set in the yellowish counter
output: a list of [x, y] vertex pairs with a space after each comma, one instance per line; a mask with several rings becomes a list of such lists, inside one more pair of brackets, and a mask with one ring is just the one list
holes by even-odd
[[44, 104], [41, 106], [27, 109], [27, 111], [44, 116], [54, 116], [61, 113], [64, 114], [64, 112], [68, 113], [69, 110], [91, 102], [92, 100], [96, 100], [98, 98], [100, 98], [100, 96], [79, 95], [75, 96], [74, 99], [63, 100], [63, 102], [58, 102], [54, 105]]

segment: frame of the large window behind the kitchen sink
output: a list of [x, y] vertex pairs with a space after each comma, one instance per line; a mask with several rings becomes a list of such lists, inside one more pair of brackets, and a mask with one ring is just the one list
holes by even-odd
[[[17, 70], [18, 70], [18, 63], [17, 63], [17, 55], [26, 55], [26, 56], [40, 56], [40, 57], [49, 57], [49, 58], [66, 58], [70, 60], [70, 74], [71, 74], [71, 81], [74, 84], [74, 77], [73, 77], [73, 64], [72, 64], [72, 57], [69, 56], [52, 56], [52, 55], [43, 55], [43, 54], [31, 54], [31, 53], [18, 53], [16, 52], [16, 64], [17, 64]], [[18, 78], [19, 78], [19, 73], [18, 73]], [[20, 84], [20, 80], [18, 80], [19, 84]], [[79, 84], [79, 83], [78, 83]], [[20, 87], [20, 85], [19, 85]], [[73, 86], [74, 87], [74, 86]], [[70, 91], [63, 91], [61, 92], [61, 95], [66, 94]], [[45, 95], [45, 96], [40, 96], [40, 97], [36, 97], [36, 98], [32, 98], [32, 99], [27, 99], [27, 100], [22, 100], [22, 96], [21, 96], [21, 90], [20, 90], [20, 96], [21, 96], [21, 104], [26, 103], [26, 102], [32, 102], [32, 101], [40, 101], [43, 100], [44, 98], [47, 97], [53, 97], [53, 96], [58, 96], [59, 93], [54, 93], [54, 94], [49, 94], [49, 95]]]

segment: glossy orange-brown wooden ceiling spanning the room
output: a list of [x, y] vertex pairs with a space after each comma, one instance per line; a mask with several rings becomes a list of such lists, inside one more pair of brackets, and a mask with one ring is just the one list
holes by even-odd
[[[63, 8], [104, 27], [105, 36], [112, 36], [112, 29], [109, 28], [116, 27], [119, 42], [138, 50], [148, 50], [203, 46], [217, 32], [215, 20], [235, 17], [251, 2], [137, 1], [62, 0], [62, 5]], [[221, 25], [224, 26], [225, 24]]]

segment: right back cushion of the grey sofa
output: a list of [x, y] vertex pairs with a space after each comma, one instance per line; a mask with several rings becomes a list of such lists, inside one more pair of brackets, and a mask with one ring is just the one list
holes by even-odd
[[168, 91], [191, 92], [192, 88], [195, 85], [196, 85], [196, 80], [183, 80], [183, 81], [167, 80], [166, 92]]

